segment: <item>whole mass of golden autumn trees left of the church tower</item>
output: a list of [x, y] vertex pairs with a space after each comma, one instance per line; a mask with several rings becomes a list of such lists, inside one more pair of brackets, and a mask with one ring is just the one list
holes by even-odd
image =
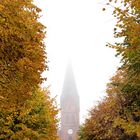
[[0, 140], [56, 140], [57, 108], [41, 77], [47, 69], [33, 0], [0, 0]]

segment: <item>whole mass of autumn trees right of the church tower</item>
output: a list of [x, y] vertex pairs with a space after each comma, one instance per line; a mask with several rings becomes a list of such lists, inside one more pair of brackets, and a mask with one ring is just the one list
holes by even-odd
[[80, 140], [140, 139], [140, 1], [107, 3], [114, 4], [114, 36], [123, 41], [108, 46], [116, 50], [122, 65], [107, 84], [106, 98], [90, 110], [81, 126]]

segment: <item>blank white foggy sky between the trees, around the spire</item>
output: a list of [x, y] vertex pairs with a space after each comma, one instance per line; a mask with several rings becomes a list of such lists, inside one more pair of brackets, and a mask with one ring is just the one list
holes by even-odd
[[69, 60], [73, 65], [81, 103], [83, 121], [92, 105], [105, 95], [106, 83], [119, 64], [114, 50], [107, 42], [114, 42], [115, 19], [112, 9], [102, 11], [100, 0], [36, 0], [43, 10], [41, 22], [47, 26], [46, 51], [49, 60], [48, 77], [51, 95], [62, 92]]

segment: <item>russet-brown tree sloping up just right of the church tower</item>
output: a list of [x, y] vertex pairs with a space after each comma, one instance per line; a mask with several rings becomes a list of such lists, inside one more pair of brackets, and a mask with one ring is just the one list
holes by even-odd
[[[107, 84], [107, 96], [89, 111], [88, 118], [80, 129], [80, 140], [137, 140], [135, 133], [127, 133], [118, 123], [125, 98], [119, 84], [124, 82], [126, 73], [118, 70]], [[128, 126], [128, 123], [126, 124]]]

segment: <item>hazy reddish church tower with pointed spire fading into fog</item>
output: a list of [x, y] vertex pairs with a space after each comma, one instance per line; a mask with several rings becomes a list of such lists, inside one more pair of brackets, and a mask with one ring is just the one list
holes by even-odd
[[77, 140], [79, 129], [79, 95], [71, 64], [68, 65], [61, 94], [61, 140]]

